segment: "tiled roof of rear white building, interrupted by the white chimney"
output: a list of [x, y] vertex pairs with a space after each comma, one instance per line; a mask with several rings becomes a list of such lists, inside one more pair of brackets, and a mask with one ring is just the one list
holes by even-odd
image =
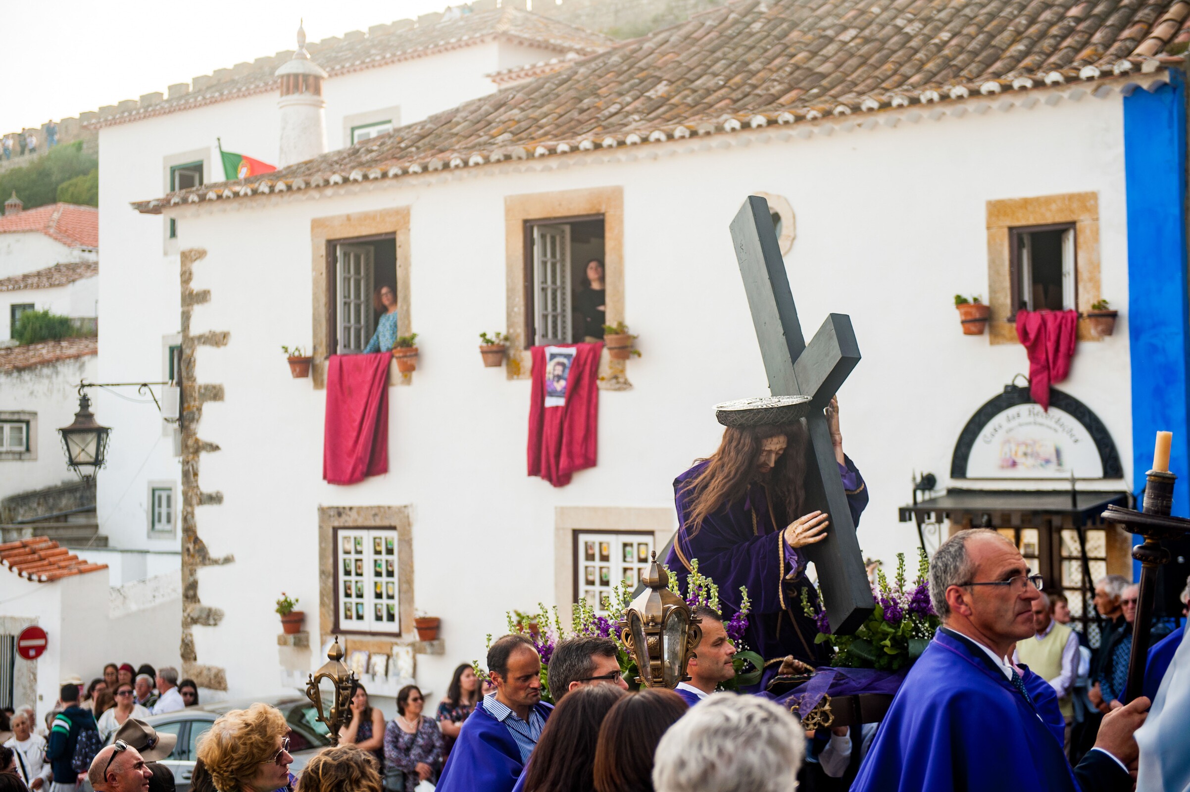
[[[483, 44], [494, 38], [553, 50], [559, 55], [568, 52], [590, 55], [615, 44], [615, 39], [601, 33], [515, 8], [464, 14], [456, 19], [443, 19], [416, 27], [412, 26], [412, 20], [406, 21], [409, 27], [401, 27], [401, 23], [378, 25], [367, 36], [358, 33], [347, 40], [327, 39], [307, 44], [306, 49], [318, 65], [331, 77], [336, 77], [399, 61], [436, 55], [444, 50]], [[292, 55], [293, 52], [278, 52], [271, 57], [257, 58], [252, 63], [242, 63], [234, 69], [223, 69], [215, 73], [215, 76], [224, 78], [215, 80], [202, 89], [163, 101], [132, 102], [136, 106], [123, 112], [113, 108], [115, 112], [101, 115], [88, 126], [100, 128], [126, 124], [240, 96], [276, 92], [280, 81], [274, 73]], [[157, 96], [159, 98], [159, 94]]]

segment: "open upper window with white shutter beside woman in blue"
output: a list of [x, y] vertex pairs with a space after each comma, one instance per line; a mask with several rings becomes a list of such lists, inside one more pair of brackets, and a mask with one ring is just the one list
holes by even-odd
[[[363, 352], [376, 332], [380, 313], [375, 295], [382, 287], [396, 289], [396, 238], [394, 234], [327, 243], [327, 260], [334, 262], [328, 301], [332, 316], [328, 350], [334, 354]], [[328, 268], [330, 269], [330, 268]]]

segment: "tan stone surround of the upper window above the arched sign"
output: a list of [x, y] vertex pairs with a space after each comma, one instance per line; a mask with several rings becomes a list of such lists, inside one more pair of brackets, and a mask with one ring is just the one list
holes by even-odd
[[[988, 304], [991, 307], [989, 344], [1020, 344], [1012, 309], [1012, 230], [1028, 226], [1075, 224], [1075, 278], [1081, 314], [1100, 300], [1098, 193], [1066, 193], [987, 202]], [[1079, 341], [1100, 341], [1086, 322], [1078, 321]]]

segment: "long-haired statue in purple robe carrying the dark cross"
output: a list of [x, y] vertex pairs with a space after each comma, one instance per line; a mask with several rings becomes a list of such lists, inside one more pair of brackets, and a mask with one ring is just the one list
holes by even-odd
[[[837, 400], [831, 400], [826, 415], [851, 518], [858, 526], [868, 489], [843, 453]], [[818, 596], [798, 548], [826, 539], [822, 532], [828, 526], [826, 514], [803, 514], [808, 447], [801, 419], [729, 425], [719, 450], [674, 480], [678, 530], [665, 565], [688, 591], [691, 561], [697, 560], [699, 572], [719, 586], [727, 620], [740, 609], [740, 586], [747, 586], [752, 612], [744, 642], [772, 664], [770, 672], [787, 655], [812, 665], [826, 660], [825, 648], [814, 643], [818, 626], [802, 605], [803, 591], [815, 609]]]

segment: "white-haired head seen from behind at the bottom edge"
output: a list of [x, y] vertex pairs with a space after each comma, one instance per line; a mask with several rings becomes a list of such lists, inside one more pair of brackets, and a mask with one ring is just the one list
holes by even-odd
[[[806, 733], [793, 715], [754, 696], [714, 693], [657, 746], [657, 792], [793, 792]], [[746, 750], [731, 746], [747, 746]]]

